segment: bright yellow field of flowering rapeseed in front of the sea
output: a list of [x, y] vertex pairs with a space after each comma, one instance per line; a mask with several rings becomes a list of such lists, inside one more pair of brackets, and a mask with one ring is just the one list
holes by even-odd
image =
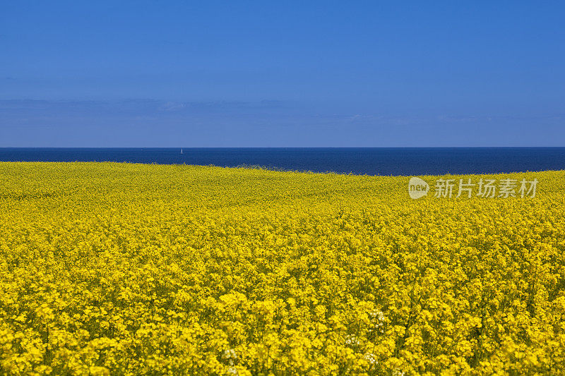
[[491, 178], [2, 162], [0, 374], [564, 375], [565, 171]]

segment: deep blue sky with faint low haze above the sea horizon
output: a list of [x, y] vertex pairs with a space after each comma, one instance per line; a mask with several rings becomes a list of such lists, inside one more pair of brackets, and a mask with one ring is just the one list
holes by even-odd
[[0, 147], [565, 146], [563, 1], [4, 1]]

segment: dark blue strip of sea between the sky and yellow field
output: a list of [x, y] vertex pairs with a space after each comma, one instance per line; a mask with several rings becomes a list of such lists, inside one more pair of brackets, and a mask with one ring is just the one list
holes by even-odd
[[565, 147], [0, 148], [0, 161], [263, 166], [367, 175], [494, 174], [565, 169]]

